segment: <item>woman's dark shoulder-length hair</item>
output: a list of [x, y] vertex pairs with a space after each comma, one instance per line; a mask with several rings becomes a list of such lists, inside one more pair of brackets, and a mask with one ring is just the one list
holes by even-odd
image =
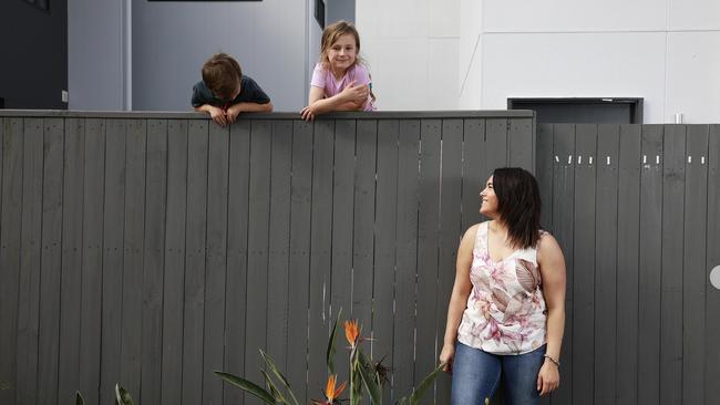
[[539, 240], [541, 198], [537, 180], [520, 167], [501, 167], [493, 172], [497, 214], [507, 227], [515, 248], [537, 246]]

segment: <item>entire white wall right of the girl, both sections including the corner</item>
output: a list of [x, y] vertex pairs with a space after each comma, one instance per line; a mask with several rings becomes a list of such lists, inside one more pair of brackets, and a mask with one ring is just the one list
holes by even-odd
[[646, 123], [720, 122], [718, 0], [363, 0], [357, 19], [382, 110], [644, 97]]

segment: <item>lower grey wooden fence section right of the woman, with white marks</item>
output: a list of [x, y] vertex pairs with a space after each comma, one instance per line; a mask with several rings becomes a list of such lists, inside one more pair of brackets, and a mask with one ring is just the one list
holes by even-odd
[[539, 125], [568, 263], [553, 404], [718, 404], [720, 125]]

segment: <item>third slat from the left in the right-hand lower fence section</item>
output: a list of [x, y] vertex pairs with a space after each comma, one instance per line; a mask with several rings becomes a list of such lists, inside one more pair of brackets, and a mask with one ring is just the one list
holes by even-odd
[[[597, 125], [575, 126], [573, 282], [573, 403], [593, 403], [595, 340], [595, 181]], [[594, 158], [590, 165], [590, 157]]]

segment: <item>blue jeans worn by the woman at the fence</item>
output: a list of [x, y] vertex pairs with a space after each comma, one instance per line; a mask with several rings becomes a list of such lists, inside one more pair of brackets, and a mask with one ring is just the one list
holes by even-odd
[[525, 354], [497, 355], [457, 342], [452, 365], [452, 405], [484, 405], [492, 398], [501, 373], [505, 402], [510, 405], [539, 404], [537, 373], [545, 345]]

